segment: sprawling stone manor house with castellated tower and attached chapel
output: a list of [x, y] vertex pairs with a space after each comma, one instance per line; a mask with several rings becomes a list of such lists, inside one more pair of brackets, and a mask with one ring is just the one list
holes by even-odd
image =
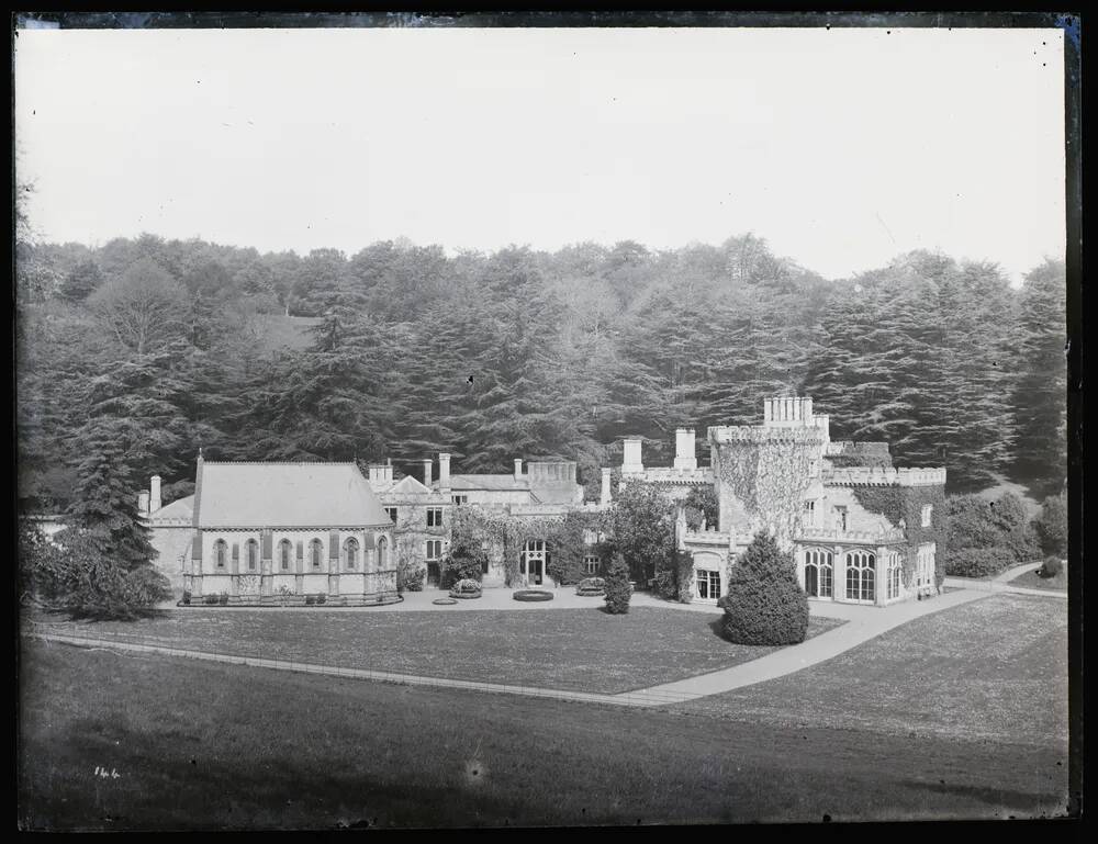
[[[815, 600], [887, 605], [935, 587], [944, 517], [944, 469], [897, 469], [885, 442], [832, 441], [811, 398], [768, 398], [762, 425], [707, 430], [709, 465], [698, 465], [695, 432], [675, 432], [671, 466], [646, 466], [642, 441], [624, 442], [620, 483], [659, 484], [682, 500], [713, 486], [716, 525], [688, 529], [677, 508], [676, 538], [694, 560], [694, 595], [716, 601], [727, 572], [758, 530], [794, 552], [797, 577]], [[422, 477], [393, 477], [391, 463], [215, 462], [200, 454], [192, 496], [160, 504], [160, 479], [139, 506], [153, 529], [158, 566], [177, 596], [226, 594], [233, 604], [324, 595], [329, 605], [397, 600], [397, 566], [423, 570], [436, 588], [453, 514], [478, 507], [533, 520], [613, 502], [602, 470], [597, 502], [584, 502], [572, 461], [515, 460], [508, 474], [453, 474], [450, 455], [423, 460]], [[594, 543], [596, 537], [589, 534]], [[554, 585], [545, 539], [517, 561], [530, 585]], [[596, 556], [584, 558], [597, 570]], [[485, 586], [502, 586], [505, 561], [493, 549]], [[300, 600], [300, 598], [298, 598]]]

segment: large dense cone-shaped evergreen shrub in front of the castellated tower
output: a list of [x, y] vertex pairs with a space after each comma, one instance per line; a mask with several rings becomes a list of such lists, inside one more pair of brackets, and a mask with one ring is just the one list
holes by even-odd
[[808, 596], [793, 554], [769, 533], [757, 533], [740, 555], [717, 606], [725, 611], [725, 638], [737, 644], [796, 644], [808, 633]]

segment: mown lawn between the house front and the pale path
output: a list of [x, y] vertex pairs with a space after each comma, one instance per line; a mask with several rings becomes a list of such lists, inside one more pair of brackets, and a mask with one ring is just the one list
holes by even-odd
[[[119, 638], [264, 659], [448, 679], [616, 694], [728, 668], [776, 648], [718, 635], [718, 611], [597, 607], [541, 612], [168, 610], [138, 622], [49, 624], [51, 632]], [[841, 623], [813, 617], [808, 634]]]

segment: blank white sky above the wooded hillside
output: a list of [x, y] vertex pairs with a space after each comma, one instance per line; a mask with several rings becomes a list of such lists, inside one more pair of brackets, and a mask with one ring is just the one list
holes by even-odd
[[29, 31], [49, 240], [492, 250], [754, 232], [828, 277], [1064, 252], [1058, 30]]

